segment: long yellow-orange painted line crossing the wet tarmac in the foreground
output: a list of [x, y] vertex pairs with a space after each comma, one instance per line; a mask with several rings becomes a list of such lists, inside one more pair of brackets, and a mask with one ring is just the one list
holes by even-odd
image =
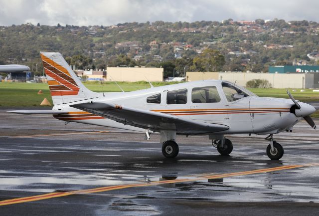
[[160, 184], [193, 182], [193, 181], [200, 181], [205, 179], [221, 179], [221, 178], [228, 178], [228, 177], [234, 177], [234, 176], [245, 176], [245, 175], [258, 174], [258, 173], [268, 173], [268, 172], [274, 172], [274, 171], [280, 171], [280, 170], [289, 170], [289, 169], [295, 169], [295, 168], [301, 168], [301, 167], [313, 167], [313, 166], [319, 166], [319, 163], [288, 165], [288, 166], [228, 173], [228, 174], [206, 175], [206, 176], [197, 176], [197, 177], [195, 176], [195, 178], [189, 178], [189, 179], [154, 181], [150, 183], [137, 183], [137, 184], [108, 186], [108, 187], [101, 187], [101, 188], [94, 188], [94, 189], [87, 189], [87, 190], [71, 191], [71, 192], [49, 193], [49, 194], [32, 196], [32, 197], [24, 197], [24, 198], [0, 201], [0, 206], [12, 205], [12, 204], [18, 204], [18, 203], [27, 203], [27, 202], [46, 200], [46, 199], [58, 198], [58, 197], [65, 197], [65, 196], [70, 196], [74, 194], [91, 194], [91, 193], [113, 191], [113, 190], [120, 190], [120, 189], [126, 189], [126, 188], [155, 186]]

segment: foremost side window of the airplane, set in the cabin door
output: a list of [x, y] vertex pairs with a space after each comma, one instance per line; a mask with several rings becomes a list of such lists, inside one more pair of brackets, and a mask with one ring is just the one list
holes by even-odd
[[193, 88], [191, 91], [193, 103], [218, 103], [220, 97], [215, 86]]

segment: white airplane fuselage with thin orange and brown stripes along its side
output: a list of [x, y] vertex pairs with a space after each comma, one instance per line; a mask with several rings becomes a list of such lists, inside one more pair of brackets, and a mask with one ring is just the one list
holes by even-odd
[[[232, 86], [242, 91], [241, 94], [244, 96], [238, 94], [235, 95], [238, 98], [231, 98], [232, 95], [228, 93], [232, 91]], [[211, 93], [211, 98], [208, 98], [209, 95], [204, 95], [205, 92]], [[175, 95], [172, 96], [172, 94]], [[91, 100], [81, 102], [89, 103]], [[104, 96], [101, 93], [98, 98], [94, 98], [94, 101], [111, 102], [199, 122], [228, 126], [229, 129], [222, 134], [276, 134], [292, 130], [292, 127], [301, 119], [290, 112], [294, 103], [289, 99], [258, 97], [247, 89], [221, 80], [180, 83], [132, 92], [104, 93]], [[142, 128], [124, 125], [69, 106], [75, 103], [78, 102], [54, 106], [53, 110], [61, 109], [69, 113], [53, 116], [62, 121], [145, 131]]]

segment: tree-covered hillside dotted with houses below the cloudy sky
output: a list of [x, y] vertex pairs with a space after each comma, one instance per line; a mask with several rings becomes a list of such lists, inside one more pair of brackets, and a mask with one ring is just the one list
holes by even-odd
[[220, 71], [267, 72], [268, 66], [318, 64], [319, 23], [282, 19], [120, 23], [111, 26], [0, 26], [0, 63], [42, 71], [39, 51], [57, 51], [77, 69], [164, 67], [165, 75], [197, 67], [205, 49], [224, 56]]

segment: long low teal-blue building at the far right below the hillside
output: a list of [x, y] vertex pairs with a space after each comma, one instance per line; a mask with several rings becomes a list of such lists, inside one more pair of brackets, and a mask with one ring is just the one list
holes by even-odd
[[269, 73], [309, 73], [319, 72], [319, 65], [284, 65], [270, 66]]

